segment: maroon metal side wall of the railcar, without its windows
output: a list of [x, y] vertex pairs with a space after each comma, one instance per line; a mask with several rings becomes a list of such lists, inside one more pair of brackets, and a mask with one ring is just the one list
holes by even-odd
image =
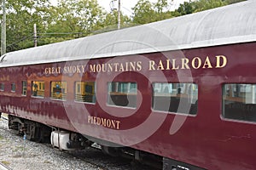
[[[6, 87], [0, 110], [207, 169], [254, 169], [255, 123], [225, 120], [221, 111], [224, 83], [256, 83], [255, 48], [256, 43], [244, 43], [1, 68]], [[44, 98], [32, 97], [32, 81], [45, 82]], [[67, 100], [50, 98], [52, 81], [67, 82]], [[96, 82], [96, 104], [74, 101], [77, 81]], [[16, 93], [9, 82], [17, 84]], [[137, 108], [108, 105], [108, 82], [137, 82]], [[153, 82], [196, 83], [197, 115], [154, 111]]]

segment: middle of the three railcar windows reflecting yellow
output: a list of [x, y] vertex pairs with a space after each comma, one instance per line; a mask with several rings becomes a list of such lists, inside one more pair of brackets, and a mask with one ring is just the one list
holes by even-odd
[[67, 82], [50, 82], [51, 99], [67, 99]]

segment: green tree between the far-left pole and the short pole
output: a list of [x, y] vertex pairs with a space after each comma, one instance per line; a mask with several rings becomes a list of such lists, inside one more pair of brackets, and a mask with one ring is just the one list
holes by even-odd
[[44, 29], [42, 23], [48, 7], [49, 0], [6, 2], [7, 52], [33, 46], [33, 25], [37, 24], [39, 30]]

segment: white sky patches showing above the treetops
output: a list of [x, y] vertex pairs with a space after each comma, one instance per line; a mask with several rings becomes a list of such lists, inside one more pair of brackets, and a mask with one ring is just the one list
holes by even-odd
[[[57, 4], [57, 0], [50, 0], [53, 4]], [[114, 0], [97, 0], [99, 5], [102, 6], [102, 8], [104, 8], [106, 11], [110, 12], [111, 11], [111, 5], [110, 3]], [[118, 0], [115, 0], [116, 1], [116, 5], [115, 7], [117, 7], [118, 5]], [[157, 0], [149, 0], [151, 3], [156, 3]], [[183, 3], [183, 2], [189, 2], [189, 0], [168, 0], [168, 2], [172, 2], [172, 8], [171, 9], [175, 9], [175, 8], [178, 8], [179, 4], [180, 3]], [[132, 9], [136, 3], [138, 2], [138, 0], [120, 0], [121, 2], [121, 11], [124, 13], [124, 14], [127, 14], [127, 15], [131, 15], [132, 14]]]

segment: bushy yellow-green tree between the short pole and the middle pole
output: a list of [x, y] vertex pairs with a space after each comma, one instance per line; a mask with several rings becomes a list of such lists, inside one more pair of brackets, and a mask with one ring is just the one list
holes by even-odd
[[52, 13], [55, 19], [47, 32], [55, 32], [55, 37], [58, 33], [66, 33], [69, 38], [84, 37], [102, 28], [104, 14], [96, 0], [61, 0]]

